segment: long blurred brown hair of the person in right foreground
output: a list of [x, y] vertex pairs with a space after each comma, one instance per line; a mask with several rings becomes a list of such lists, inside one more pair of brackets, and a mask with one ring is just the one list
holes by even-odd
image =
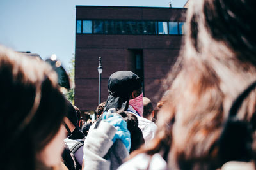
[[[157, 136], [139, 152], [161, 153], [170, 169], [221, 167], [218, 141], [228, 111], [256, 80], [255, 9], [253, 0], [191, 1], [184, 50], [164, 84], [168, 96], [159, 111]], [[237, 120], [256, 124], [255, 104], [254, 90]], [[252, 152], [254, 145], [253, 140]]]

